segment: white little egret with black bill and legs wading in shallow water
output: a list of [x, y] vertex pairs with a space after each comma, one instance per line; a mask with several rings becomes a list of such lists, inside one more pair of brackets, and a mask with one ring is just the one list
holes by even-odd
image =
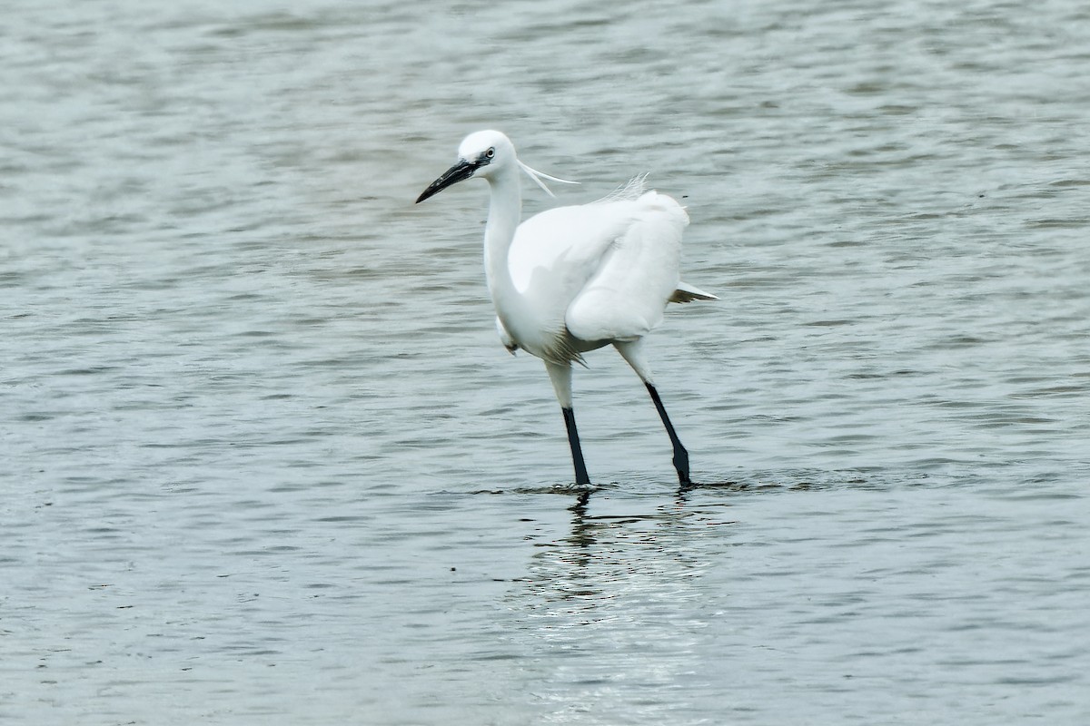
[[496, 329], [512, 354], [545, 361], [564, 413], [576, 483], [590, 484], [571, 405], [571, 364], [613, 345], [647, 386], [674, 445], [674, 468], [689, 479], [689, 453], [670, 423], [642, 352], [642, 339], [663, 320], [667, 303], [714, 300], [715, 295], [681, 282], [681, 231], [689, 223], [673, 198], [644, 190], [638, 176], [615, 194], [589, 205], [558, 207], [519, 223], [524, 171], [542, 181], [566, 182], [519, 161], [514, 145], [498, 131], [470, 134], [458, 161], [416, 199], [480, 177], [491, 201], [484, 230], [484, 267], [496, 307]]

